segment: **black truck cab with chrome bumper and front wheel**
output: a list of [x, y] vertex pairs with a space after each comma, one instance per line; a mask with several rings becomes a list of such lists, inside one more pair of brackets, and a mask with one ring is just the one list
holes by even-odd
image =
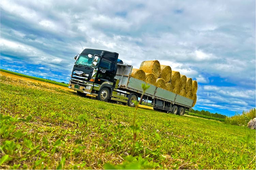
[[69, 88], [106, 101], [115, 86], [118, 53], [84, 49], [75, 56]]

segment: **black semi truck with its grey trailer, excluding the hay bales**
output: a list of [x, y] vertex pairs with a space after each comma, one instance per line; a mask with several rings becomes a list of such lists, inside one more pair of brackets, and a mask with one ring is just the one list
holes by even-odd
[[[135, 107], [143, 89], [139, 79], [131, 77], [132, 65], [118, 59], [119, 54], [97, 49], [84, 49], [75, 55], [69, 88], [78, 94], [92, 95], [101, 101], [117, 101]], [[193, 100], [149, 84], [141, 105], [154, 110], [183, 115]]]

